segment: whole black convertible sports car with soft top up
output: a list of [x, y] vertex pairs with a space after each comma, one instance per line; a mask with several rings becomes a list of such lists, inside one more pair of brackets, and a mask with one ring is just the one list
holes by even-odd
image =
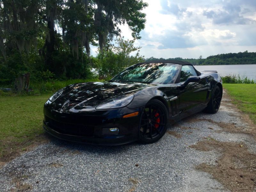
[[159, 140], [173, 123], [222, 98], [217, 71], [197, 71], [182, 61], [133, 65], [108, 82], [72, 84], [44, 104], [44, 129], [64, 140], [119, 145]]

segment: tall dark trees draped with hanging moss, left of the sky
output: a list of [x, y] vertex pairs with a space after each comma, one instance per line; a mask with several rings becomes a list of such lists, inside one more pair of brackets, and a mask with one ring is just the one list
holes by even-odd
[[33, 81], [90, 78], [90, 44], [105, 54], [125, 23], [139, 39], [147, 5], [142, 0], [0, 0], [0, 83], [27, 72]]

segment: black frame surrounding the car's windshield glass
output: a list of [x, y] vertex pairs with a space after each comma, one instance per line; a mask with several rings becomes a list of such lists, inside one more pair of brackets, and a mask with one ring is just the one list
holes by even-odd
[[[175, 77], [173, 78], [173, 83], [168, 83], [168, 84], [177, 84], [179, 81], [179, 77], [180, 77], [180, 71], [181, 71], [181, 67], [182, 65], [181, 64], [178, 64], [178, 63], [169, 63], [169, 62], [144, 62], [144, 63], [138, 63], [138, 64], [135, 64], [135, 65], [132, 65], [126, 69], [124, 69], [123, 71], [121, 71], [120, 73], [118, 73], [117, 75], [115, 75], [110, 81], [114, 81], [114, 82], [126, 82], [126, 83], [145, 83], [145, 84], [155, 84], [153, 82], [135, 82], [135, 81], [115, 81], [113, 79], [116, 78], [116, 76], [118, 76], [119, 74], [123, 73], [124, 71], [126, 71], [127, 69], [129, 68], [134, 68], [134, 67], [137, 67], [139, 65], [143, 65], [143, 64], [158, 64], [158, 63], [161, 63], [161, 64], [167, 64], [167, 65], [176, 65], [177, 66], [177, 73], [175, 75]], [[161, 84], [162, 85], [162, 84]], [[166, 85], [166, 84], [163, 84], [163, 85]]]

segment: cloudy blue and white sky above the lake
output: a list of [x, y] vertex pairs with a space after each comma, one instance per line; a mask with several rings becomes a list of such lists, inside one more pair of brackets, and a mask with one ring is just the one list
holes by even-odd
[[[256, 52], [256, 0], [144, 0], [140, 32], [145, 58], [206, 58], [229, 52]], [[132, 39], [127, 25], [121, 36]], [[95, 54], [96, 48], [92, 48]]]

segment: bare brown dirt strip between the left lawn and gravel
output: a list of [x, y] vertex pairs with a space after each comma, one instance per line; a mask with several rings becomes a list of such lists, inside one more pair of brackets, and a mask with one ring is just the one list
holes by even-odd
[[29, 140], [24, 143], [5, 143], [4, 145], [4, 155], [0, 157], [0, 169], [4, 164], [8, 163], [12, 159], [16, 158], [17, 156], [20, 156], [22, 153], [31, 151], [38, 145], [44, 144], [49, 142], [52, 139], [52, 137], [47, 134], [41, 134], [36, 136], [33, 140]]

